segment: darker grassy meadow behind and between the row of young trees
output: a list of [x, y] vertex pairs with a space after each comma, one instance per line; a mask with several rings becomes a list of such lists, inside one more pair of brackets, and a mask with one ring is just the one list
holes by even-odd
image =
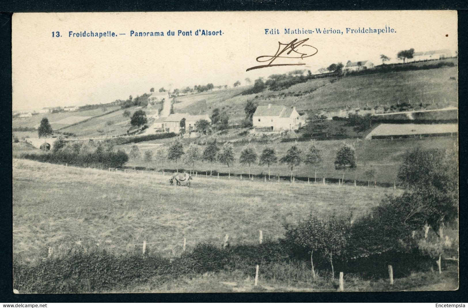
[[[171, 139], [172, 140], [172, 139]], [[335, 157], [336, 152], [340, 148], [343, 142], [354, 144], [356, 148], [356, 160], [358, 167], [353, 170], [348, 170], [344, 173], [344, 179], [354, 181], [356, 180], [373, 180], [369, 179], [365, 172], [369, 169], [376, 170], [377, 173], [377, 180], [378, 182], [387, 182], [393, 183], [396, 180], [396, 176], [398, 173], [398, 168], [402, 164], [404, 160], [404, 155], [407, 151], [412, 150], [416, 147], [421, 147], [424, 149], [429, 148], [437, 148], [437, 149], [446, 149], [449, 147], [453, 147], [453, 143], [456, 142], [456, 137], [438, 137], [438, 138], [424, 138], [424, 139], [399, 139], [399, 140], [386, 140], [386, 139], [376, 139], [376, 140], [357, 140], [357, 139], [347, 139], [347, 140], [325, 140], [325, 141], [317, 141], [318, 146], [322, 149], [322, 163], [315, 167], [308, 166], [308, 165], [300, 165], [298, 167], [294, 167], [294, 175], [297, 177], [314, 177], [315, 169], [317, 171], [317, 178], [318, 180], [322, 180], [321, 178], [342, 178], [343, 171], [335, 170]], [[142, 154], [146, 150], [152, 150], [156, 153], [156, 150], [160, 147], [166, 147], [166, 145], [170, 142], [170, 140], [155, 140], [153, 142], [144, 142], [144, 143], [136, 143], [139, 145], [140, 151]], [[256, 144], [257, 154], [261, 154], [262, 150], [266, 146], [273, 147], [276, 152], [278, 159], [281, 158], [287, 149], [289, 149], [294, 142], [275, 142], [270, 144]], [[299, 142], [297, 146], [306, 151], [310, 147], [311, 142]], [[128, 144], [123, 146], [123, 149], [129, 153], [130, 147], [132, 145]], [[242, 146], [235, 145], [234, 146], [234, 153], [236, 162], [231, 166], [231, 172], [233, 173], [244, 173], [247, 174], [249, 172], [249, 168], [247, 165], [240, 165], [238, 163], [239, 154], [241, 152]], [[157, 158], [155, 158], [157, 159]], [[136, 160], [130, 160], [127, 163], [127, 166], [139, 166], [139, 167], [147, 167], [148, 164], [143, 161], [142, 158]], [[150, 168], [162, 169], [163, 165], [159, 161], [153, 161], [149, 164]], [[178, 168], [185, 168], [189, 170], [191, 166], [184, 165], [180, 160], [177, 164]], [[173, 161], [166, 161], [164, 163], [164, 168], [166, 169], [176, 169], [176, 163]], [[195, 169], [199, 171], [208, 171], [210, 172], [210, 168], [212, 168], [216, 175], [216, 172], [223, 172], [227, 173], [228, 168], [226, 165], [221, 165], [218, 162], [213, 163], [212, 165], [209, 162], [197, 162], [195, 164]], [[251, 172], [253, 174], [263, 174], [268, 175], [268, 168], [267, 166], [259, 166], [254, 164], [251, 166]], [[271, 166], [271, 174], [276, 175], [280, 174], [283, 176], [288, 176], [290, 174], [290, 170], [286, 165], [282, 164], [275, 164]]]

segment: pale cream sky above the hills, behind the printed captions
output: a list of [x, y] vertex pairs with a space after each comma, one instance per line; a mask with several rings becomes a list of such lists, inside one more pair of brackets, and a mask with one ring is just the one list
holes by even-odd
[[[295, 34], [284, 29], [385, 28], [392, 34]], [[177, 30], [192, 36], [177, 36]], [[196, 29], [222, 31], [195, 36]], [[265, 35], [279, 29], [280, 35]], [[117, 37], [68, 37], [80, 31], [126, 33]], [[163, 31], [164, 36], [134, 37], [130, 31]], [[167, 36], [168, 30], [176, 36]], [[380, 54], [397, 62], [399, 50], [457, 50], [455, 11], [352, 12], [183, 12], [183, 13], [20, 13], [13, 15], [13, 109], [40, 109], [109, 103], [166, 89], [213, 83], [244, 85], [260, 76], [294, 69], [315, 72], [331, 63], [370, 60]], [[52, 37], [59, 31], [61, 37]], [[448, 35], [448, 36], [447, 36]], [[278, 42], [309, 38], [318, 49], [306, 66], [268, 67], [256, 57], [273, 55]], [[274, 63], [298, 63], [278, 58]]]

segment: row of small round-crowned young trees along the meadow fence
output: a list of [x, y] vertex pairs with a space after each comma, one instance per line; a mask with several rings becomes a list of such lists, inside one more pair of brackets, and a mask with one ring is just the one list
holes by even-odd
[[[137, 145], [133, 145], [129, 153], [133, 159], [139, 158], [141, 153]], [[143, 159], [147, 162], [148, 168], [150, 162], [153, 160], [158, 161], [162, 164], [164, 169], [164, 162], [166, 159], [176, 162], [176, 169], [178, 171], [178, 161], [182, 161], [190, 165], [191, 171], [195, 169], [195, 163], [197, 161], [207, 161], [212, 165], [214, 162], [219, 162], [226, 165], [228, 168], [228, 174], [231, 174], [231, 166], [235, 163], [236, 158], [234, 155], [234, 148], [231, 143], [224, 143], [220, 147], [216, 140], [208, 143], [205, 149], [202, 150], [200, 146], [195, 143], [184, 150], [183, 143], [181, 140], [176, 139], [170, 143], [167, 150], [158, 150], [156, 155], [151, 150], [147, 150], [144, 153]], [[285, 164], [291, 171], [291, 180], [293, 176], [294, 167], [301, 165], [302, 163], [317, 167], [322, 162], [322, 150], [317, 147], [316, 143], [312, 143], [307, 151], [303, 152], [296, 145], [292, 145], [285, 153], [284, 156], [278, 158], [275, 149], [266, 147], [259, 155], [255, 146], [249, 144], [242, 148], [239, 158], [237, 161], [241, 165], [247, 165], [249, 167], [249, 176], [251, 174], [250, 167], [258, 163], [258, 165], [266, 165], [268, 167], [268, 176], [270, 178], [271, 165], [278, 163]], [[343, 144], [342, 147], [336, 153], [335, 166], [337, 169], [354, 168], [356, 167], [356, 155], [355, 150], [348, 144]], [[212, 167], [210, 173], [212, 172]]]

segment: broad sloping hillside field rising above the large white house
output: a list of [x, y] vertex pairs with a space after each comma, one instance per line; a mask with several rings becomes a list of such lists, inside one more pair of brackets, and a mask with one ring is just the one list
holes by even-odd
[[[450, 79], [453, 77], [455, 80]], [[457, 66], [429, 70], [386, 72], [342, 78], [312, 79], [285, 90], [265, 90], [240, 95], [249, 86], [178, 97], [176, 112], [210, 114], [215, 107], [226, 111], [230, 122], [245, 117], [243, 107], [249, 99], [259, 105], [296, 106], [298, 110], [337, 111], [345, 107], [392, 106], [400, 102], [427, 108], [458, 105]], [[432, 103], [433, 102], [433, 103]]]

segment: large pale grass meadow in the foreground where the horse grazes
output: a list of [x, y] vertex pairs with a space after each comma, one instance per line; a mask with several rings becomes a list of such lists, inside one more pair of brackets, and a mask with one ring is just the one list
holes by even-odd
[[99, 245], [115, 253], [174, 256], [183, 239], [256, 243], [284, 233], [284, 222], [311, 212], [355, 219], [400, 190], [194, 177], [191, 187], [170, 186], [166, 173], [123, 173], [15, 159], [13, 245], [34, 261], [69, 249]]

